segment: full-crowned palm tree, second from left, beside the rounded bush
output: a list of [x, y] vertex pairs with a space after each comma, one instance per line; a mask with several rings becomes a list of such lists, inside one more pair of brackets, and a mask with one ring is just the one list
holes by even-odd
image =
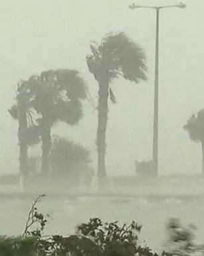
[[38, 119], [42, 139], [41, 171], [49, 172], [51, 128], [58, 121], [76, 125], [82, 117], [81, 100], [86, 97], [84, 80], [75, 70], [49, 70], [29, 79], [34, 95], [33, 106], [41, 117]]

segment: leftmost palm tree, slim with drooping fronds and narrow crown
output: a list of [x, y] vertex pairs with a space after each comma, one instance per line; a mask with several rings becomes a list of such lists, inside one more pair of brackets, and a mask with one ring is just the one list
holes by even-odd
[[31, 90], [27, 81], [21, 81], [17, 85], [15, 104], [8, 109], [11, 117], [19, 122], [19, 170], [23, 177], [29, 175], [28, 146], [38, 142], [39, 129], [33, 123]]

